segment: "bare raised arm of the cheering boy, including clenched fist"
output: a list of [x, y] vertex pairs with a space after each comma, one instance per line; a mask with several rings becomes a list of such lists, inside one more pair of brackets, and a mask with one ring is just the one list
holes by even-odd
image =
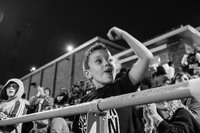
[[140, 41], [117, 27], [111, 28], [107, 36], [110, 40], [125, 40], [137, 55], [138, 60], [130, 69], [129, 78], [133, 84], [138, 84], [148, 70], [153, 54]]

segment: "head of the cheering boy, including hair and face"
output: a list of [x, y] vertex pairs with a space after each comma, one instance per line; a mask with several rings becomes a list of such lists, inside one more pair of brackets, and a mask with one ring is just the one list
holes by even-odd
[[83, 71], [86, 78], [91, 80], [97, 88], [115, 79], [116, 67], [113, 58], [102, 43], [97, 43], [86, 52]]

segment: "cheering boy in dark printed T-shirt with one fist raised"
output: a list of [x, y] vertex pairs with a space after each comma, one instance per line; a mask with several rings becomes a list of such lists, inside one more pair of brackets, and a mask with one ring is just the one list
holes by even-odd
[[[81, 99], [82, 103], [136, 91], [153, 59], [152, 53], [126, 31], [113, 27], [107, 36], [110, 40], [125, 40], [138, 56], [138, 60], [125, 76], [114, 81], [116, 69], [110, 52], [101, 43], [92, 46], [85, 54], [83, 71], [86, 78], [95, 85], [96, 91], [85, 95]], [[133, 124], [131, 109], [132, 107], [108, 110], [107, 133], [134, 133], [134, 126], [137, 125]], [[77, 115], [72, 130], [75, 133], [85, 133], [86, 126], [86, 115]]]

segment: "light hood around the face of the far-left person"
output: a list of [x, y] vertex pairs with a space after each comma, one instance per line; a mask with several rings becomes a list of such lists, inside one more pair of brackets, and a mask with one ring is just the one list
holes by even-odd
[[20, 80], [20, 79], [17, 79], [17, 78], [13, 78], [13, 79], [10, 79], [6, 82], [6, 84], [3, 86], [2, 90], [1, 90], [1, 93], [0, 93], [0, 99], [2, 100], [8, 100], [8, 96], [6, 94], [6, 86], [10, 83], [10, 82], [14, 82], [16, 84], [19, 85], [19, 89], [17, 90], [15, 96], [14, 96], [14, 99], [15, 98], [21, 98], [21, 96], [23, 95], [24, 93], [24, 84], [23, 82]]

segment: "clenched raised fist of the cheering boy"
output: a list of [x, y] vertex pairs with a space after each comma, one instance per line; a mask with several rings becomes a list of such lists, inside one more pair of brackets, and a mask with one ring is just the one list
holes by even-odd
[[110, 40], [119, 40], [122, 39], [122, 30], [117, 27], [112, 27], [108, 33], [107, 36]]

